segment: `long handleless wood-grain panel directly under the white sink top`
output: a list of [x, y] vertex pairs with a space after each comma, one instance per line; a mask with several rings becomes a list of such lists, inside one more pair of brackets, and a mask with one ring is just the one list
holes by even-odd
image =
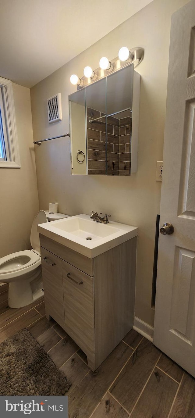
[[45, 237], [42, 234], [39, 234], [41, 247], [46, 248], [46, 250], [51, 251], [56, 254], [62, 260], [67, 261], [71, 265], [79, 268], [84, 271], [84, 273], [89, 274], [90, 276], [94, 275], [94, 259], [88, 258], [85, 255], [79, 254], [71, 248], [65, 247], [59, 242], [51, 240], [51, 238]]

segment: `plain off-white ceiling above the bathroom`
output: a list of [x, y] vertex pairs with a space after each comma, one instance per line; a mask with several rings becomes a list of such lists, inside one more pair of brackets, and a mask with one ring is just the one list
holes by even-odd
[[151, 0], [0, 0], [0, 76], [32, 87]]

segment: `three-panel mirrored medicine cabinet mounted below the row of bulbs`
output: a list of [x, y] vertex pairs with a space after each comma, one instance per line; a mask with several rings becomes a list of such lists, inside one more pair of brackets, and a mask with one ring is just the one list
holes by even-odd
[[139, 85], [129, 64], [69, 96], [72, 174], [137, 171]]

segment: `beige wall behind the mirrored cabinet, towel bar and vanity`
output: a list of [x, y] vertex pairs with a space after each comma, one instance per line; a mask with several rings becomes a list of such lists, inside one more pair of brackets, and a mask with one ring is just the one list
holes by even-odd
[[[160, 182], [156, 161], [162, 160], [165, 122], [170, 19], [187, 0], [154, 0], [68, 64], [31, 89], [34, 139], [69, 132], [68, 94], [76, 91], [71, 74], [82, 76], [86, 65], [99, 66], [101, 56], [113, 59], [121, 46], [144, 48], [141, 74], [138, 170], [131, 177], [71, 176], [69, 140], [53, 140], [35, 148], [40, 208], [50, 201], [58, 210], [75, 215], [111, 213], [113, 220], [139, 227], [135, 314], [153, 325], [152, 270]], [[79, 42], [79, 38], [78, 38]], [[51, 51], [52, 59], [52, 51]], [[48, 125], [46, 99], [61, 92], [63, 120]]]

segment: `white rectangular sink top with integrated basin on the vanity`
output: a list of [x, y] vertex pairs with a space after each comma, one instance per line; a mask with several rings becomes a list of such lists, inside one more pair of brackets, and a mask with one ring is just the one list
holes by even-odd
[[130, 225], [101, 224], [81, 214], [38, 225], [38, 232], [89, 258], [94, 258], [138, 234]]

